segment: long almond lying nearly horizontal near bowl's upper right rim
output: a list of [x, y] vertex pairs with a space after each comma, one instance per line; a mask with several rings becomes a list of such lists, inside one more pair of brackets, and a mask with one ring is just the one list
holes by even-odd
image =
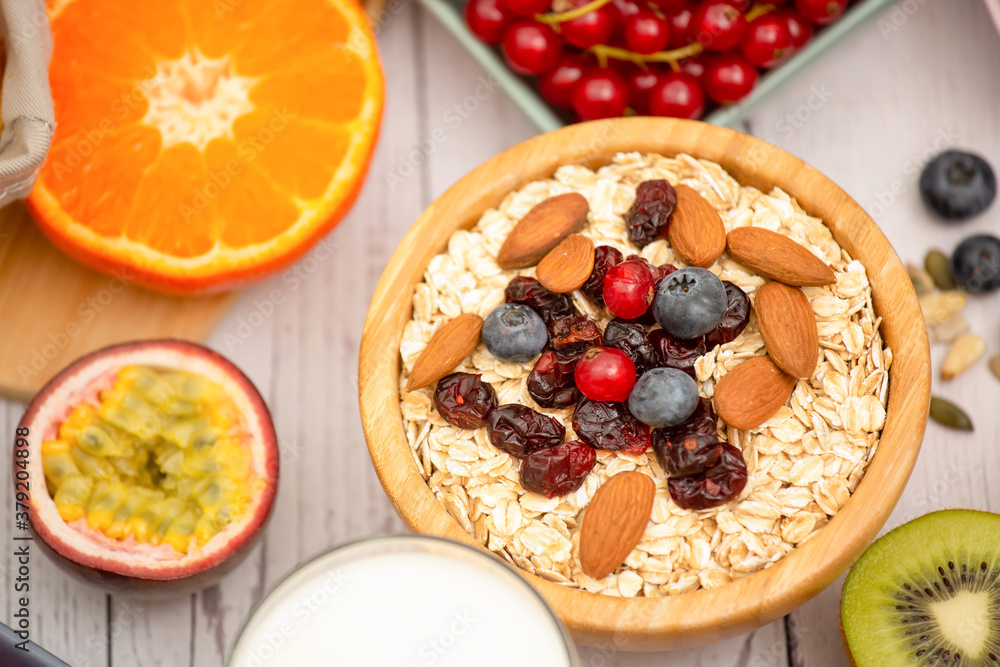
[[765, 278], [786, 285], [830, 285], [833, 269], [805, 246], [761, 227], [737, 227], [726, 237], [729, 254]]

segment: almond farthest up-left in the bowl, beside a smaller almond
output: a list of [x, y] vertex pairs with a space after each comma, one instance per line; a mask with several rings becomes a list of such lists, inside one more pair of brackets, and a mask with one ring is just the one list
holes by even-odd
[[497, 264], [501, 269], [534, 266], [559, 242], [587, 223], [590, 204], [577, 192], [549, 197], [521, 218], [500, 246]]

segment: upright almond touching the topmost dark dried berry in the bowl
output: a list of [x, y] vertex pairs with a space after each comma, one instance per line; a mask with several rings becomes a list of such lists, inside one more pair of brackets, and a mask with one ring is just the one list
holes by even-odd
[[674, 253], [691, 266], [708, 268], [726, 249], [726, 227], [719, 212], [698, 191], [674, 186], [677, 206], [667, 237]]

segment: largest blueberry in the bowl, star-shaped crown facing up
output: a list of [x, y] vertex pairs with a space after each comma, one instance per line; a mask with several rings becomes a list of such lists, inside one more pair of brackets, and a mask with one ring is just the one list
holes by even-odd
[[660, 282], [653, 299], [653, 315], [677, 338], [697, 338], [719, 326], [729, 299], [722, 281], [706, 269], [690, 266]]

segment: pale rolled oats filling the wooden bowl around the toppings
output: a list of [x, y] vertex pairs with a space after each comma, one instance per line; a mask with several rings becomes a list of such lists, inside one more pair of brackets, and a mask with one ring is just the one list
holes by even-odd
[[[413, 319], [400, 343], [401, 386], [434, 331], [462, 312], [486, 316], [503, 302], [516, 275], [495, 257], [514, 223], [549, 196], [576, 191], [590, 203], [582, 233], [595, 244], [639, 254], [653, 264], [681, 264], [663, 239], [636, 251], [628, 242], [623, 214], [637, 183], [666, 178], [702, 194], [719, 211], [727, 231], [756, 225], [795, 239], [827, 261], [836, 283], [806, 287], [817, 316], [820, 363], [813, 377], [798, 382], [788, 404], [751, 431], [725, 427], [720, 439], [743, 452], [750, 475], [735, 501], [693, 512], [679, 508], [667, 491], [666, 475], [652, 452], [598, 452], [584, 484], [564, 497], [545, 498], [521, 488], [519, 465], [493, 448], [485, 429], [462, 431], [436, 412], [432, 389], [401, 392], [400, 407], [414, 462], [449, 514], [487, 548], [508, 562], [565, 586], [619, 597], [678, 595], [710, 589], [767, 567], [820, 530], [847, 502], [874, 456], [885, 423], [888, 369], [892, 354], [879, 333], [864, 267], [841, 249], [830, 230], [806, 215], [778, 188], [768, 193], [741, 187], [719, 165], [686, 155], [666, 158], [628, 153], [595, 171], [564, 166], [551, 179], [530, 183], [483, 214], [468, 231], [455, 232], [447, 252], [431, 260], [416, 286]], [[764, 280], [724, 254], [713, 272], [751, 299]], [[932, 296], [932, 295], [928, 295]], [[923, 297], [925, 315], [943, 323], [964, 305], [964, 296], [942, 292]], [[608, 316], [579, 292], [577, 310], [603, 328]], [[961, 302], [961, 303], [959, 303]], [[763, 351], [756, 321], [733, 342], [698, 359], [702, 395], [742, 360]], [[480, 373], [500, 403], [523, 403], [551, 415], [575, 438], [572, 409], [546, 410], [529, 396], [531, 363], [496, 359], [480, 345], [456, 370]], [[650, 523], [638, 546], [618, 570], [602, 580], [586, 576], [576, 556], [582, 514], [610, 476], [639, 470], [656, 480]]]

